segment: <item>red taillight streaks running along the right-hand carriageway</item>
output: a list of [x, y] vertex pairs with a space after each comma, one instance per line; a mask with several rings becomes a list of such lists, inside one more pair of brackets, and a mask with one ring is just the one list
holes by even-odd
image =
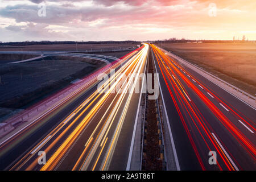
[[[180, 80], [179, 80], [179, 77], [181, 78], [181, 80], [188, 85], [189, 88], [191, 88], [193, 90], [193, 92], [195, 92], [197, 94], [197, 96], [205, 103], [205, 105], [207, 107], [209, 107], [209, 109], [212, 111], [212, 113], [214, 115], [216, 115], [216, 117], [221, 121], [221, 123], [226, 127], [226, 129], [228, 129], [228, 131], [238, 140], [238, 142], [243, 146], [245, 147], [245, 150], [248, 151], [250, 153], [250, 155], [255, 158], [255, 147], [253, 146], [253, 144], [236, 128], [236, 126], [233, 125], [233, 123], [231, 121], [229, 121], [229, 119], [227, 117], [225, 117], [225, 115], [223, 113], [221, 113], [220, 109], [217, 108], [216, 105], [213, 104], [212, 101], [209, 101], [207, 97], [204, 96], [204, 94], [198, 89], [196, 88], [195, 85], [192, 84], [192, 82], [190, 80], [188, 80], [187, 77], [185, 77], [183, 75], [183, 73], [181, 73], [179, 71], [179, 69], [177, 69], [175, 67], [175, 65], [177, 67], [179, 67], [179, 65], [175, 64], [173, 60], [170, 59], [170, 57], [167, 57], [162, 51], [160, 51], [158, 48], [156, 48], [154, 45], [151, 46], [154, 53], [155, 53], [155, 56], [156, 56], [156, 60], [157, 60], [157, 63], [159, 65], [159, 68], [160, 68], [160, 71], [162, 72], [162, 75], [163, 75], [163, 78], [164, 78], [164, 81], [166, 82], [166, 85], [167, 85], [167, 88], [170, 92], [170, 95], [172, 97], [172, 100], [174, 101], [174, 104], [175, 104], [175, 107], [177, 109], [177, 112], [181, 118], [181, 121], [183, 122], [183, 126], [187, 132], [187, 135], [189, 137], [189, 140], [191, 141], [191, 144], [193, 146], [193, 149], [195, 151], [195, 154], [197, 155], [197, 158], [201, 164], [201, 167], [202, 169], [204, 169], [204, 165], [202, 163], [202, 160], [200, 159], [200, 156], [199, 156], [199, 152], [197, 151], [196, 149], [196, 145], [195, 145], [195, 142], [193, 141], [193, 139], [197, 140], [195, 137], [192, 138], [189, 130], [188, 130], [188, 126], [185, 122], [187, 121], [184, 121], [184, 118], [183, 118], [183, 114], [181, 114], [181, 111], [180, 111], [180, 106], [181, 109], [183, 109], [183, 113], [186, 112], [188, 113], [190, 119], [193, 121], [194, 125], [196, 126], [197, 130], [199, 131], [202, 139], [204, 140], [205, 144], [207, 145], [207, 147], [209, 148], [210, 150], [210, 147], [208, 146], [208, 143], [207, 140], [204, 139], [203, 137], [203, 134], [201, 133], [199, 127], [197, 127], [196, 125], [196, 122], [200, 124], [200, 127], [201, 129], [203, 129], [206, 137], [208, 138], [208, 140], [210, 141], [209, 144], [213, 145], [213, 147], [217, 150], [218, 154], [220, 154], [221, 156], [221, 159], [224, 161], [225, 163], [225, 166], [228, 168], [228, 169], [236, 169], [234, 168], [233, 164], [230, 163], [230, 158], [227, 158], [226, 157], [226, 153], [222, 151], [222, 148], [218, 145], [218, 143], [216, 142], [216, 140], [212, 137], [211, 135], [211, 131], [213, 131], [213, 129], [210, 127], [209, 123], [204, 119], [203, 115], [200, 113], [199, 109], [196, 107], [196, 105], [191, 102], [191, 104], [189, 104], [187, 102], [187, 100], [184, 100], [184, 97], [183, 97], [183, 94], [186, 94], [186, 92], [184, 91], [185, 89], [183, 89], [183, 86], [181, 86], [181, 84], [179, 84]], [[166, 66], [166, 63], [168, 63], [168, 65]], [[167, 68], [166, 68], [167, 67]], [[179, 67], [180, 68], [180, 67]], [[174, 72], [175, 71], [175, 72]], [[183, 71], [184, 72], [184, 71]], [[172, 89], [174, 89], [174, 93], [176, 94], [176, 97], [177, 99], [174, 97], [174, 95], [172, 94], [173, 92], [171, 91], [171, 88], [169, 87], [169, 83], [168, 81], [166, 80], [166, 75], [167, 75], [167, 78], [168, 80], [170, 81], [171, 85], [172, 85]], [[176, 75], [174, 78], [176, 78], [175, 80], [171, 77], [174, 77], [174, 75]], [[179, 77], [177, 76], [179, 75]], [[216, 95], [213, 97], [212, 94], [209, 93], [209, 90], [207, 88], [205, 88], [205, 86], [203, 84], [200, 83], [199, 80], [197, 80], [195, 77], [193, 76], [189, 76], [189, 74], [187, 74], [187, 76], [190, 78], [192, 77], [192, 81], [193, 82], [197, 82], [199, 83], [199, 86], [200, 88], [202, 89], [205, 89], [206, 91], [208, 91], [207, 93], [212, 97], [216, 97]], [[176, 82], [178, 84], [176, 84]], [[178, 86], [179, 85], [179, 86]], [[183, 90], [183, 92], [181, 92], [181, 90]], [[182, 97], [182, 99], [180, 98], [180, 96]], [[180, 103], [179, 105], [177, 105], [177, 102], [176, 100]], [[184, 102], [183, 102], [184, 101]], [[224, 106], [224, 103], [221, 102], [222, 106]], [[228, 106], [224, 106], [225, 107], [228, 107]], [[229, 108], [229, 107], [228, 107]], [[185, 109], [185, 110], [184, 110]], [[192, 113], [193, 117], [196, 118], [196, 120], [193, 119], [192, 115], [189, 114], [189, 113]], [[236, 113], [237, 114], [237, 113]], [[187, 114], [185, 114], [185, 117], [187, 117]], [[196, 121], [196, 122], [195, 122]], [[190, 125], [190, 123], [188, 122], [188, 125]], [[192, 126], [191, 126], [192, 127]], [[193, 133], [193, 130], [192, 130], [192, 133]], [[199, 143], [201, 144], [201, 143]], [[218, 165], [218, 167], [220, 169], [222, 169], [220, 167], [220, 165]]]

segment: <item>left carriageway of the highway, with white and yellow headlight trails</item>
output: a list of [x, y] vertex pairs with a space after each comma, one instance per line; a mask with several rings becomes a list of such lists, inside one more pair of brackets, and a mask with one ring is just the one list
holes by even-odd
[[[2, 144], [1, 169], [125, 170], [141, 96], [133, 90], [141, 85], [139, 74], [146, 70], [148, 47], [114, 64], [115, 73], [104, 78], [102, 92], [97, 89], [99, 82], [93, 82], [73, 101], [43, 118], [47, 122], [36, 131]], [[38, 163], [39, 151], [46, 153], [45, 165]]]

